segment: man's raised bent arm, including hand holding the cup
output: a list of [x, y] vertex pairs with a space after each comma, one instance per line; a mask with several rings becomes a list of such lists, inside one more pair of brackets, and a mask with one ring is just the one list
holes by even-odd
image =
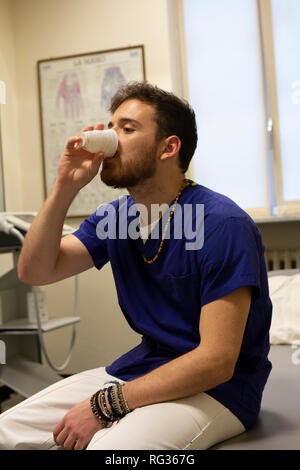
[[75, 236], [61, 238], [74, 197], [97, 174], [103, 158], [103, 153], [81, 149], [80, 141], [80, 137], [68, 140], [53, 188], [26, 234], [18, 263], [18, 276], [26, 284], [50, 284], [93, 266], [88, 250]]

